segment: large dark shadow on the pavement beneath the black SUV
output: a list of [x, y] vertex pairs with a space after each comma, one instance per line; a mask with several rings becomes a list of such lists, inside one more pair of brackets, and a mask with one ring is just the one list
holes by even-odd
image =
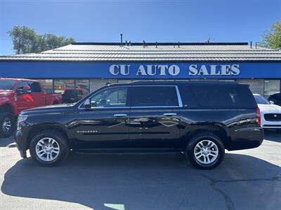
[[1, 191], [92, 209], [277, 209], [280, 174], [277, 165], [230, 153], [209, 171], [191, 167], [184, 155], [72, 154], [51, 168], [18, 161]]

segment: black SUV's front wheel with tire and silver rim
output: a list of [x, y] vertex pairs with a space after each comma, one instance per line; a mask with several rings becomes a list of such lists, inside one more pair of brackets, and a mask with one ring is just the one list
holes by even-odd
[[69, 153], [67, 137], [57, 130], [39, 132], [30, 142], [30, 155], [36, 162], [46, 167], [63, 162]]

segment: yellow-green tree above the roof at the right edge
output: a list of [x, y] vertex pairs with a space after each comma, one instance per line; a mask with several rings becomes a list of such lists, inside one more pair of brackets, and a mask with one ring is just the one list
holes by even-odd
[[263, 34], [259, 45], [265, 48], [281, 49], [281, 20], [271, 25], [271, 29]]

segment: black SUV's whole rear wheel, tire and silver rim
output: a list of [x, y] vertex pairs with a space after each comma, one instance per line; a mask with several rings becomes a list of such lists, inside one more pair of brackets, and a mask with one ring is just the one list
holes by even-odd
[[204, 132], [195, 135], [188, 141], [185, 155], [198, 169], [214, 169], [223, 161], [225, 148], [221, 139], [216, 135]]

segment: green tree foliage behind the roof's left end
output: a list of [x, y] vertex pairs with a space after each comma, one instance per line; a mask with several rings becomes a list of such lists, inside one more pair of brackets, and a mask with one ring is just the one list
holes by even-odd
[[16, 54], [42, 52], [75, 42], [74, 38], [65, 36], [37, 34], [34, 29], [25, 26], [15, 26], [8, 31], [8, 34], [12, 38]]

